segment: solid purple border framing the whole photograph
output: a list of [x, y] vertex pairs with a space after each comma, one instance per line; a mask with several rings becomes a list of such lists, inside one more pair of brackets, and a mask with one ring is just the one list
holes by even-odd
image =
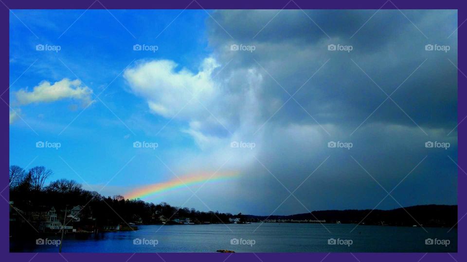
[[[0, 76], [3, 83], [0, 87], [0, 92], [3, 92], [9, 85], [9, 10], [8, 9], [103, 9], [102, 3], [108, 9], [184, 9], [191, 2], [187, 9], [296, 9], [296, 5], [291, 0], [170, 0], [170, 1], [155, 1], [155, 0], [0, 0]], [[461, 24], [467, 19], [467, 3], [461, 0], [359, 0], [350, 2], [349, 0], [333, 0], [312, 2], [307, 0], [293, 0], [302, 9], [379, 9], [384, 4], [382, 9], [458, 9], [458, 24]], [[92, 4], [94, 3], [94, 4]], [[288, 3], [288, 4], [287, 4]], [[90, 7], [90, 5], [92, 6]], [[285, 6], [287, 4], [287, 6]], [[8, 8], [6, 8], [7, 6]], [[201, 7], [200, 7], [201, 6]], [[458, 47], [466, 46], [465, 33], [467, 25], [460, 27], [458, 30]], [[466, 53], [463, 49], [458, 50], [458, 67], [460, 71], [466, 71], [464, 59]], [[458, 101], [461, 98], [467, 97], [465, 88], [467, 78], [463, 74], [458, 73]], [[9, 102], [8, 92], [2, 97], [6, 102]], [[0, 103], [1, 110], [1, 138], [0, 145], [4, 157], [0, 158], [0, 164], [3, 166], [3, 174], [7, 173], [9, 165], [9, 110], [5, 103]], [[467, 115], [467, 104], [458, 103], [458, 122]], [[459, 122], [460, 123], [460, 122]], [[7, 126], [8, 125], [8, 126]], [[460, 135], [463, 133], [464, 126], [458, 127], [458, 164], [463, 169], [466, 169], [466, 150], [464, 145], [466, 140]], [[6, 157], [5, 157], [6, 156]], [[464, 162], [466, 161], [466, 162]], [[467, 176], [464, 172], [458, 170], [458, 219], [461, 219], [458, 224], [458, 253], [355, 253], [355, 257], [350, 253], [236, 253], [236, 254], [216, 254], [216, 253], [64, 253], [61, 256], [58, 253], [9, 253], [9, 231], [8, 225], [8, 204], [0, 199], [0, 256], [2, 261], [18, 261], [18, 262], [94, 262], [94, 261], [112, 261], [126, 262], [131, 257], [129, 262], [137, 261], [191, 261], [191, 262], [206, 262], [219, 261], [223, 262], [229, 257], [229, 262], [279, 262], [279, 261], [322, 261], [324, 262], [439, 262], [439, 261], [467, 261], [467, 251], [462, 248], [467, 246], [467, 235], [465, 223], [467, 219], [464, 215], [467, 214], [467, 192], [459, 190], [463, 185], [467, 184]], [[4, 188], [8, 185], [6, 175], [0, 178], [0, 187]], [[2, 194], [3, 197], [9, 199], [8, 191]], [[452, 256], [452, 257], [450, 257]], [[33, 258], [34, 257], [34, 258]], [[357, 259], [358, 258], [358, 259]]]

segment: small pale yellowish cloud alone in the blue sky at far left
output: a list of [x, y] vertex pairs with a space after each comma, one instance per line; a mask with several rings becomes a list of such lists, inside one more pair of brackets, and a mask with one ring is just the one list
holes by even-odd
[[18, 105], [28, 105], [32, 103], [50, 103], [63, 99], [75, 99], [82, 102], [84, 106], [89, 105], [92, 90], [83, 85], [80, 80], [69, 80], [64, 78], [58, 82], [43, 81], [28, 91], [27, 88], [20, 89], [15, 93]]

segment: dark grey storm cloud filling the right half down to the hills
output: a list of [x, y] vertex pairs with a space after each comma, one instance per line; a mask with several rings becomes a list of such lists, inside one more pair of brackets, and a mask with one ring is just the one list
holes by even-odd
[[[380, 10], [369, 21], [375, 10], [305, 13], [226, 10], [213, 14], [216, 21], [207, 20], [214, 55], [219, 64], [228, 64], [216, 69], [216, 81], [224, 81], [228, 94], [252, 86], [259, 90], [252, 128], [259, 131], [247, 139], [257, 143], [254, 152], [261, 163], [243, 166], [249, 177], [237, 184], [240, 196], [254, 192], [247, 210], [272, 212], [289, 194], [284, 186], [294, 190], [328, 156], [294, 193], [309, 210], [373, 208], [386, 192], [371, 176], [390, 191], [425, 157], [393, 196], [403, 206], [455, 204], [457, 168], [448, 155], [457, 161], [457, 132], [448, 133], [457, 123], [452, 65], [457, 64], [457, 34], [449, 35], [457, 13], [404, 10], [405, 17], [398, 10]], [[232, 44], [256, 49], [231, 51]], [[329, 44], [353, 50], [329, 51]], [[426, 51], [427, 44], [450, 50]], [[249, 70], [261, 75], [261, 82], [246, 81]], [[281, 108], [289, 95], [279, 84], [290, 95], [301, 88], [294, 96], [298, 103], [290, 99]], [[383, 103], [392, 92], [394, 102]], [[245, 116], [226, 117], [235, 130]], [[354, 146], [336, 150], [327, 147], [329, 141]], [[427, 141], [449, 142], [450, 147], [426, 148]], [[389, 198], [379, 208], [397, 207]], [[276, 211], [300, 212], [306, 211], [293, 197]]]

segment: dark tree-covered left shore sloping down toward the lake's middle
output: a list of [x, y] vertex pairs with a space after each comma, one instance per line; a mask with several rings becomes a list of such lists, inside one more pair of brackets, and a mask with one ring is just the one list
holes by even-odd
[[[43, 166], [28, 171], [17, 165], [10, 166], [10, 201], [12, 208], [17, 210], [10, 211], [10, 216], [14, 215], [16, 220], [27, 220], [28, 224], [39, 228], [40, 216], [51, 207], [56, 210], [57, 220], [62, 222], [66, 209], [70, 212], [73, 207], [81, 206], [78, 214], [80, 221], [73, 222], [73, 228], [87, 230], [90, 227], [129, 226], [132, 223], [170, 224], [187, 218], [191, 223], [230, 223], [229, 218], [237, 217], [243, 220], [241, 214], [200, 212], [174, 207], [165, 202], [154, 204], [139, 199], [125, 199], [120, 195], [105, 197], [98, 192], [82, 189], [82, 185], [74, 180], [59, 179], [45, 185], [45, 180], [52, 174], [50, 169]], [[22, 223], [21, 227], [33, 230], [26, 223]], [[15, 231], [15, 228], [12, 230]]]

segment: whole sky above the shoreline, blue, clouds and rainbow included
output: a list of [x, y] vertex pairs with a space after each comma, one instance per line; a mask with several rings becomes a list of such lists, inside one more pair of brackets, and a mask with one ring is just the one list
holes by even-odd
[[455, 10], [14, 10], [10, 164], [257, 215], [457, 204]]

